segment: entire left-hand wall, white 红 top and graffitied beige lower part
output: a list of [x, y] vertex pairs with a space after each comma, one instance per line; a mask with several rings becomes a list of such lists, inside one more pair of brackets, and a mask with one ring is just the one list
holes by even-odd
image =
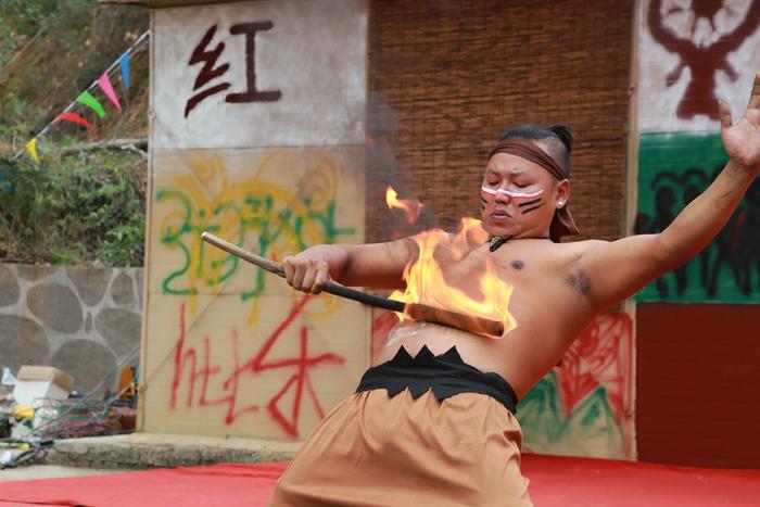
[[366, 308], [201, 241], [364, 240], [367, 5], [326, 3], [154, 14], [143, 431], [299, 440], [369, 364]]

